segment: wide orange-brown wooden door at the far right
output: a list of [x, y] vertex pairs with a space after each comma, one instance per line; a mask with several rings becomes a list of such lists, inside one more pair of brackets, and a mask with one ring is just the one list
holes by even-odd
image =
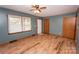
[[64, 17], [63, 36], [74, 39], [75, 34], [75, 17]]

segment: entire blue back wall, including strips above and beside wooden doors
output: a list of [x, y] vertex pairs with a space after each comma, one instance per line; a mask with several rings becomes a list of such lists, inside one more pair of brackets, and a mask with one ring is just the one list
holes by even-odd
[[[64, 16], [75, 16], [76, 13], [62, 14], [56, 16], [50, 16], [49, 33], [55, 35], [63, 35], [63, 17]], [[44, 19], [43, 19], [43, 32], [44, 32]]]

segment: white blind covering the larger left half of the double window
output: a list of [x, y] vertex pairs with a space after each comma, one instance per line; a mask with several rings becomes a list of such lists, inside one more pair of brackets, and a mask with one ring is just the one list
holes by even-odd
[[8, 15], [8, 19], [9, 33], [16, 33], [22, 31], [20, 16]]

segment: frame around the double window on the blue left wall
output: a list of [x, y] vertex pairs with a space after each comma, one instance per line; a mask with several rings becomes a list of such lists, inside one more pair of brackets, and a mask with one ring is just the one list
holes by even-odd
[[10, 33], [10, 31], [9, 31], [9, 17], [10, 17], [10, 16], [16, 16], [16, 17], [17, 17], [18, 15], [11, 15], [11, 14], [8, 14], [8, 18], [7, 18], [8, 22], [7, 22], [7, 25], [8, 25], [8, 34], [9, 34], [9, 35], [32, 31], [32, 19], [31, 19], [31, 17], [29, 17], [29, 18], [30, 18], [30, 22], [31, 22], [31, 30], [23, 31], [23, 21], [22, 21], [22, 17], [28, 17], [28, 16], [18, 16], [18, 17], [21, 17], [21, 31]]

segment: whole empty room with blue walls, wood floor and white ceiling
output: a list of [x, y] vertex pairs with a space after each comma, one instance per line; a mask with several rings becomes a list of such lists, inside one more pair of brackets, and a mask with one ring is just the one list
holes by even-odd
[[0, 5], [0, 54], [79, 53], [79, 5]]

